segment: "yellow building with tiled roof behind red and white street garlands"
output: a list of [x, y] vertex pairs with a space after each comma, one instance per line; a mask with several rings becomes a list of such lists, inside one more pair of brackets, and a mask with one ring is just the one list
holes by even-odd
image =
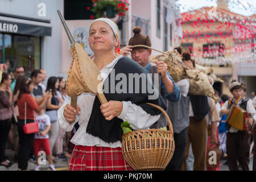
[[229, 84], [232, 78], [238, 80], [237, 63], [241, 52], [246, 53], [240, 48], [249, 45], [250, 51], [251, 39], [255, 38], [250, 31], [254, 26], [247, 26], [250, 17], [232, 13], [225, 0], [218, 1], [217, 7], [202, 7], [181, 15], [183, 52], [190, 52], [196, 63], [212, 67], [224, 80], [223, 84], [215, 83], [214, 89], [230, 96]]

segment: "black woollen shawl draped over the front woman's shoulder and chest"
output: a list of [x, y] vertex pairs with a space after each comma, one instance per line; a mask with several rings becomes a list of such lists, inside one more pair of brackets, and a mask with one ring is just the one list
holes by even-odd
[[[135, 78], [131, 78], [131, 75], [136, 75], [135, 73], [142, 76], [146, 75], [146, 80], [139, 79], [139, 82], [136, 82]], [[117, 75], [123, 75], [126, 77], [126, 79], [122, 78], [122, 80], [116, 80]], [[123, 84], [120, 84], [121, 81]], [[159, 115], [161, 111], [155, 107], [147, 105], [146, 102], [158, 105], [164, 110], [166, 110], [167, 106], [160, 94], [158, 94], [157, 98], [150, 99], [149, 96], [153, 96], [154, 93], [151, 93], [151, 90], [149, 89], [146, 89], [145, 93], [145, 84], [147, 84], [147, 88], [155, 89], [151, 78], [147, 77], [146, 69], [144, 69], [141, 65], [129, 57], [122, 57], [118, 60], [109, 76], [104, 81], [103, 92], [105, 94], [106, 100], [108, 101], [131, 101], [131, 103], [141, 106], [142, 109], [146, 111], [146, 113], [150, 115]], [[117, 86], [122, 88], [122, 93], [117, 93], [116, 91], [118, 90], [113, 89], [113, 85], [115, 88], [117, 88]], [[114, 93], [112, 93], [113, 91]], [[158, 92], [158, 90], [155, 89], [154, 92]], [[98, 97], [95, 97], [92, 114], [90, 115], [88, 126], [86, 128], [86, 133], [93, 135], [94, 137], [98, 137], [107, 143], [121, 141], [123, 135], [121, 127], [121, 123], [123, 122], [122, 119], [115, 117], [112, 119], [112, 121], [106, 121], [104, 115], [101, 113], [100, 106], [101, 103], [98, 100]]]

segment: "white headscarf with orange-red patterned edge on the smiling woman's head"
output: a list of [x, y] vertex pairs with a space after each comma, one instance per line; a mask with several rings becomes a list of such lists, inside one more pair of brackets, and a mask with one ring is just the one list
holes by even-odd
[[93, 20], [93, 22], [90, 23], [90, 26], [92, 26], [92, 24], [97, 21], [102, 21], [102, 22], [108, 23], [108, 25], [112, 28], [114, 35], [115, 35], [115, 39], [117, 39], [117, 42], [118, 42], [117, 46], [115, 47], [115, 53], [118, 55], [121, 55], [120, 39], [119, 39], [120, 34], [119, 34], [119, 28], [118, 28], [117, 24], [115, 24], [115, 22], [113, 22], [111, 19], [108, 19], [108, 18], [98, 18], [96, 20]]

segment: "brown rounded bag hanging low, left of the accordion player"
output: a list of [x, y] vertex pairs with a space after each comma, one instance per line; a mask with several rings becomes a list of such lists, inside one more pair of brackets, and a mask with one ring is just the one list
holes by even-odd
[[217, 168], [220, 164], [222, 152], [220, 150], [220, 142], [215, 147], [209, 148], [207, 153], [207, 167]]

